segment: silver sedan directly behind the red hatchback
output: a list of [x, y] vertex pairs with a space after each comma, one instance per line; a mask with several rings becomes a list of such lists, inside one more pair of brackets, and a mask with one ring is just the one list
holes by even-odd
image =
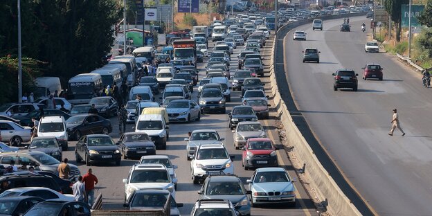
[[232, 131], [234, 134], [234, 147], [236, 150], [240, 150], [249, 138], [267, 138], [264, 128], [258, 121], [244, 121], [237, 124], [235, 130]]

